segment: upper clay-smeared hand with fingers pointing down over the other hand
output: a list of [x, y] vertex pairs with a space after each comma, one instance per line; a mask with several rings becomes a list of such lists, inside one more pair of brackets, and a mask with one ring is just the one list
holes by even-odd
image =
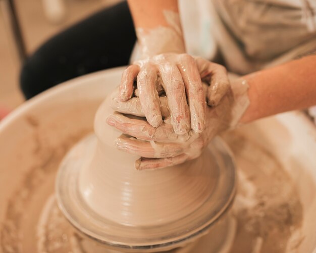
[[219, 104], [229, 88], [226, 69], [202, 58], [187, 54], [162, 54], [135, 62], [123, 73], [119, 99], [133, 99], [137, 80], [139, 105], [148, 123], [158, 127], [163, 122], [159, 92], [167, 95], [171, 124], [176, 134], [186, 134], [192, 128], [200, 133], [205, 129], [205, 98], [201, 84], [208, 79], [207, 103]]

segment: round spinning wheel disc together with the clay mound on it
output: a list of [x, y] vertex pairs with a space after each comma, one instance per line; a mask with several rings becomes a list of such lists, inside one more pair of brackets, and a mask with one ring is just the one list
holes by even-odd
[[60, 166], [56, 193], [65, 217], [100, 246], [122, 252], [171, 250], [216, 229], [221, 238], [207, 250], [218, 252], [232, 233], [227, 211], [236, 188], [225, 143], [215, 138], [198, 159], [137, 171], [139, 157], [114, 146], [121, 132], [106, 123], [110, 102], [109, 96], [96, 113], [95, 134], [76, 144]]

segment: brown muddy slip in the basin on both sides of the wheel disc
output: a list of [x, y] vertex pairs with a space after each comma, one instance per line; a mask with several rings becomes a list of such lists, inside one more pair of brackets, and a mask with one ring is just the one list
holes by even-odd
[[[37, 132], [36, 120], [27, 120]], [[6, 212], [0, 231], [0, 251], [101, 252], [91, 248], [70, 226], [54, 196], [60, 161], [67, 150], [90, 131], [89, 128], [73, 131], [54, 145], [47, 143], [44, 134], [34, 135], [37, 148], [33, 150], [33, 166], [14, 194], [8, 197], [6, 205], [1, 205], [6, 207]], [[239, 176], [233, 206], [237, 232], [231, 253], [285, 252], [291, 233], [299, 228], [302, 220], [295, 185], [268, 150], [237, 133], [226, 134], [225, 139], [235, 154]], [[204, 252], [207, 250], [200, 253]]]

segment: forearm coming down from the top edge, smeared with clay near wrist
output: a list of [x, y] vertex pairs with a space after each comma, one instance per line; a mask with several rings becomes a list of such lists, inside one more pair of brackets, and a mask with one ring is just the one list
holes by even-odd
[[185, 53], [177, 0], [128, 0], [141, 57]]

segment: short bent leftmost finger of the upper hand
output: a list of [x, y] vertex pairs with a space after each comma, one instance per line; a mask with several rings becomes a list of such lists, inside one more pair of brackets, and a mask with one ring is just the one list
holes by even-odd
[[130, 99], [134, 92], [134, 81], [139, 72], [139, 67], [137, 65], [128, 66], [123, 74], [121, 79], [119, 98], [121, 101], [126, 101]]

